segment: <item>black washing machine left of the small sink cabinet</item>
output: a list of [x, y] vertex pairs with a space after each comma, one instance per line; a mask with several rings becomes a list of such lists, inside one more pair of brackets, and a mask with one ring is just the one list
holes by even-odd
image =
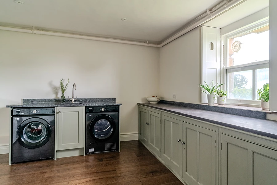
[[54, 158], [55, 108], [12, 110], [11, 163]]

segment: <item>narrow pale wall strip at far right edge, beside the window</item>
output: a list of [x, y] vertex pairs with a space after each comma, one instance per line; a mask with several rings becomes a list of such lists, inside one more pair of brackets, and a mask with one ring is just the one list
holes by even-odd
[[277, 1], [270, 0], [269, 3], [269, 110], [277, 111]]

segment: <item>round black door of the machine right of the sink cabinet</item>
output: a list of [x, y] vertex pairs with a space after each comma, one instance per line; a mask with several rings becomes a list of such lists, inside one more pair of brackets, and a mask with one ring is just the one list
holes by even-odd
[[97, 141], [109, 140], [115, 132], [115, 126], [115, 122], [110, 116], [96, 116], [90, 123], [90, 136]]

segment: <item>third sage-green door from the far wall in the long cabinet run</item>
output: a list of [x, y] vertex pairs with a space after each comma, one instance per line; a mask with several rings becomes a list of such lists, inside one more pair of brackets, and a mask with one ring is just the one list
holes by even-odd
[[182, 121], [163, 115], [162, 160], [181, 175]]

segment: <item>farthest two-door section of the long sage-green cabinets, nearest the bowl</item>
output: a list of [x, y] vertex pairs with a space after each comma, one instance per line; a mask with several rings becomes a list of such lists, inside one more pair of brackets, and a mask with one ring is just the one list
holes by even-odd
[[154, 111], [139, 108], [139, 140], [151, 152], [161, 157], [161, 113]]

